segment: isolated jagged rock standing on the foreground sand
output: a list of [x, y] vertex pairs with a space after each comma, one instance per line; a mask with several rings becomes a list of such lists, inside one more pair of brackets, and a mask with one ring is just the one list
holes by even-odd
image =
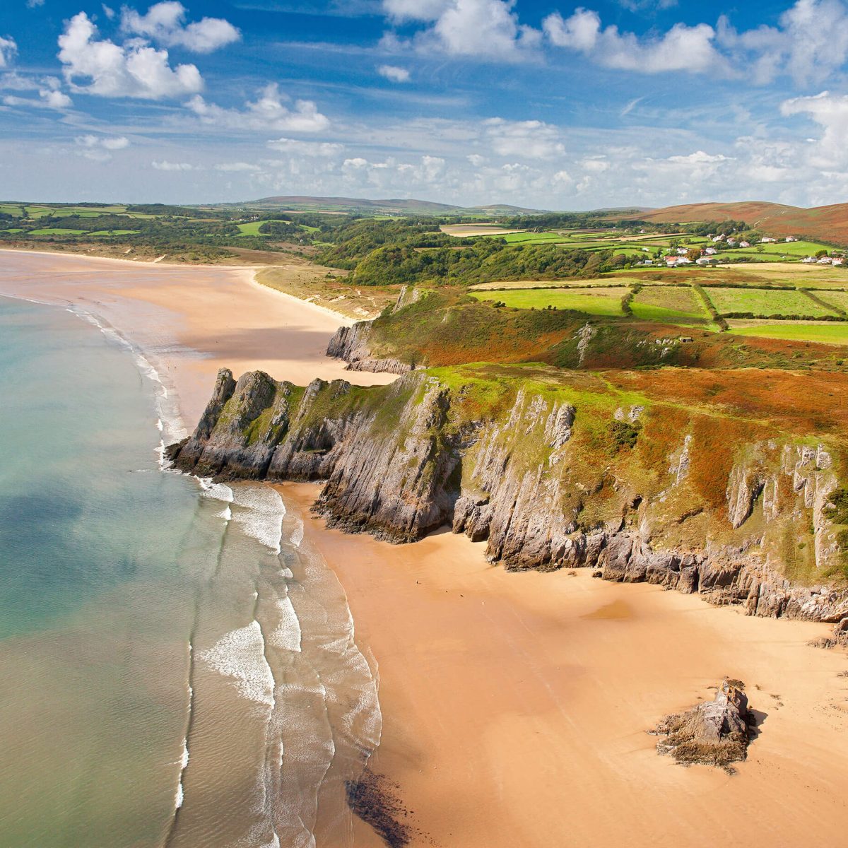
[[744, 689], [738, 680], [724, 680], [713, 700], [663, 718], [652, 731], [663, 737], [656, 750], [685, 765], [702, 763], [733, 773], [731, 765], [748, 756], [754, 722]]

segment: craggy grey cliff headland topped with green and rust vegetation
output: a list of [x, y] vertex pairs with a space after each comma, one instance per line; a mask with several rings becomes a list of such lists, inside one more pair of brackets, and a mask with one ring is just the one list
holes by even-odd
[[509, 569], [597, 567], [757, 616], [848, 616], [840, 444], [663, 404], [601, 377], [480, 366], [389, 386], [221, 371], [170, 455], [224, 479], [322, 480], [331, 526], [487, 540]]

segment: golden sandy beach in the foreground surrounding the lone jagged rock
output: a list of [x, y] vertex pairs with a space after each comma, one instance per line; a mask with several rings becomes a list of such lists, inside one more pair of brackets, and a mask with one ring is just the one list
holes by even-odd
[[[415, 545], [327, 531], [285, 484], [380, 665], [382, 743], [410, 845], [837, 845], [848, 821], [848, 669], [827, 625], [694, 595], [506, 573], [449, 533]], [[760, 736], [733, 778], [656, 755], [645, 730], [747, 683]], [[380, 845], [358, 826], [357, 846]], [[430, 841], [432, 840], [432, 841]]]

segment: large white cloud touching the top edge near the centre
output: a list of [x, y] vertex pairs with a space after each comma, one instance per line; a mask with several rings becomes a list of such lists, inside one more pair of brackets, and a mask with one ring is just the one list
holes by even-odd
[[[515, 5], [516, 0], [383, 0], [391, 20], [426, 25], [410, 42], [413, 47], [503, 61], [525, 58], [541, 38], [538, 30], [518, 22]], [[396, 36], [386, 43], [401, 44]]]

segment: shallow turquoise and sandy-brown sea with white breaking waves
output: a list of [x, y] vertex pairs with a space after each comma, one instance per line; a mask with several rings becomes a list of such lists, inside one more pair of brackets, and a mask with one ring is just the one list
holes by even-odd
[[144, 353], [0, 298], [0, 845], [352, 843], [377, 666], [274, 488], [167, 467]]

